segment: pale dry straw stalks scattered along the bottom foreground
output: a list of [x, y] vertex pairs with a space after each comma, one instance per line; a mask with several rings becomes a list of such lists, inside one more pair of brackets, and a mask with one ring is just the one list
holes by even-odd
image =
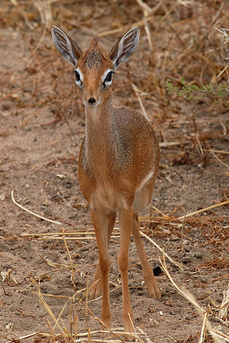
[[[145, 235], [144, 235], [145, 237]], [[71, 255], [68, 249], [68, 245], [65, 241], [65, 238], [62, 236], [68, 255], [70, 259], [70, 266], [69, 268], [72, 269], [72, 281], [73, 281], [73, 287], [75, 289], [74, 285], [74, 271], [73, 271], [73, 265], [72, 265], [72, 259]], [[203, 319], [203, 324], [202, 324], [202, 330], [199, 336], [198, 343], [207, 343], [209, 340], [208, 335], [210, 335], [213, 338], [213, 341], [215, 343], [224, 343], [229, 341], [229, 336], [225, 333], [223, 333], [222, 328], [220, 326], [212, 327], [209, 321], [209, 314], [210, 314], [210, 319], [212, 318], [217, 318], [220, 320], [220, 324], [226, 325], [228, 324], [228, 309], [229, 309], [229, 288], [223, 292], [223, 299], [221, 301], [220, 306], [216, 306], [215, 302], [211, 300], [211, 306], [208, 305], [207, 309], [203, 309], [195, 299], [195, 297], [184, 287], [179, 287], [179, 285], [174, 281], [173, 277], [170, 275], [166, 263], [165, 263], [165, 253], [164, 249], [160, 249], [162, 251], [162, 257], [163, 257], [163, 263], [161, 262], [160, 258], [160, 263], [161, 266], [167, 275], [168, 279], [170, 280], [171, 284], [175, 288], [175, 290], [182, 296], [184, 297], [188, 302], [190, 302], [193, 307], [196, 309], [197, 313], [199, 316]], [[173, 262], [173, 261], [172, 261]], [[52, 267], [55, 268], [56, 270], [56, 265], [50, 264]], [[88, 266], [90, 267], [90, 266]], [[49, 272], [50, 273], [50, 272]], [[66, 342], [66, 343], [74, 343], [74, 342], [82, 342], [82, 341], [88, 341], [88, 342], [105, 342], [105, 343], [115, 343], [115, 342], [123, 342], [124, 340], [122, 338], [123, 334], [125, 332], [123, 330], [117, 330], [117, 329], [109, 329], [107, 328], [107, 331], [101, 331], [101, 330], [96, 330], [96, 331], [91, 331], [90, 327], [88, 326], [88, 331], [87, 332], [79, 332], [78, 330], [78, 313], [82, 312], [85, 315], [85, 320], [86, 322], [88, 319], [93, 319], [97, 321], [100, 325], [105, 326], [105, 324], [94, 315], [94, 313], [90, 309], [90, 305], [88, 303], [88, 293], [90, 292], [91, 287], [87, 287], [86, 289], [75, 291], [75, 295], [72, 297], [62, 297], [62, 296], [55, 296], [55, 295], [47, 295], [47, 294], [42, 294], [39, 288], [39, 285], [36, 283], [35, 280], [31, 279], [32, 284], [35, 285], [37, 292], [33, 292], [38, 296], [39, 302], [43, 306], [43, 308], [46, 310], [48, 314], [47, 318], [47, 324], [49, 327], [49, 332], [33, 332], [29, 335], [18, 337], [18, 341], [30, 338], [32, 336], [40, 337], [41, 339], [51, 339], [52, 342], [60, 341], [60, 342]], [[53, 297], [56, 298], [56, 301], [61, 298], [66, 298], [66, 303], [63, 306], [62, 311], [59, 313], [58, 317], [56, 317], [51, 309], [51, 307], [48, 305], [48, 303], [45, 300], [45, 297]], [[69, 323], [67, 324], [66, 321], [62, 319], [64, 311], [68, 309], [69, 311]], [[18, 309], [16, 309], [18, 310]], [[24, 316], [31, 316], [29, 314], [23, 313], [22, 311], [18, 310], [22, 315]], [[15, 338], [13, 334], [11, 334], [11, 328], [9, 327], [9, 332], [5, 332], [3, 335], [3, 338], [8, 339], [6, 343], [11, 343], [15, 341]], [[106, 333], [107, 337], [101, 339], [99, 334], [101, 333]], [[145, 334], [145, 332], [139, 328], [136, 327], [136, 332], [135, 334], [132, 334], [133, 338], [135, 341], [138, 341], [140, 343], [143, 342], [151, 342], [150, 338]], [[9, 337], [12, 336], [11, 339]], [[40, 339], [39, 338], [39, 339]], [[192, 336], [188, 336], [186, 341], [192, 342]], [[194, 340], [195, 341], [195, 340]]]

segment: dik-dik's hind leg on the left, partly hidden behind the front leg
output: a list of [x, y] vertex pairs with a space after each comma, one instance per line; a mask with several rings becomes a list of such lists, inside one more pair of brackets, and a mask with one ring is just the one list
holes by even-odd
[[[115, 221], [116, 221], [116, 212], [111, 212], [107, 214], [107, 247], [109, 245], [110, 236], [113, 231], [113, 226], [115, 225]], [[97, 268], [94, 274], [93, 283], [94, 285], [92, 286], [92, 289], [91, 289], [90, 299], [96, 299], [100, 297], [102, 294], [102, 279], [101, 279], [101, 269], [100, 269], [99, 263], [97, 265]]]

